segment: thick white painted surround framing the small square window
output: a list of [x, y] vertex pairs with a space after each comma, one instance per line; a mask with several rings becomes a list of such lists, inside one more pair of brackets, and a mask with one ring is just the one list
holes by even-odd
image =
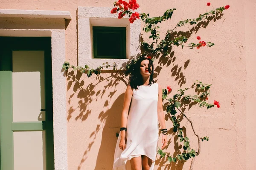
[[[96, 69], [103, 62], [110, 65], [116, 62], [117, 69], [126, 69], [129, 59], [140, 54], [140, 19], [130, 23], [128, 16], [118, 19], [118, 14], [111, 14], [111, 7], [78, 7], [78, 64], [87, 64]], [[138, 11], [140, 12], [140, 11]], [[92, 26], [121, 26], [126, 27], [127, 59], [93, 59], [92, 56]], [[111, 67], [108, 69], [112, 69]]]

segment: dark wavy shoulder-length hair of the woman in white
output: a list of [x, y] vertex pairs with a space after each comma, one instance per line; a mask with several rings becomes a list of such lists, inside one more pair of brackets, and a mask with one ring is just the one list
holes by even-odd
[[[136, 63], [131, 64], [130, 68], [126, 72], [126, 75], [130, 74], [129, 80], [130, 80], [130, 86], [132, 89], [138, 89], [137, 86], [143, 85], [143, 78], [142, 78], [142, 75], [140, 74], [140, 63], [143, 60], [149, 61], [148, 72], [151, 73], [149, 76], [149, 86], [151, 86], [151, 84], [154, 83], [154, 81], [153, 81], [153, 75], [154, 75], [153, 61], [149, 58], [141, 57], [137, 60]], [[151, 67], [152, 67], [152, 69], [151, 69]]]

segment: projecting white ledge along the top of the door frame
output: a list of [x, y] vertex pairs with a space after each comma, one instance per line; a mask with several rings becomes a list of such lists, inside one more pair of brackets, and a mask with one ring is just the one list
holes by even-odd
[[71, 20], [69, 11], [0, 9], [0, 17], [63, 18]]

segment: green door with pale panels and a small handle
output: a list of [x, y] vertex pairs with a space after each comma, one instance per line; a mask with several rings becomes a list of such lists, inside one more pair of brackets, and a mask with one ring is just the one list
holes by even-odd
[[0, 169], [54, 170], [51, 37], [0, 37]]

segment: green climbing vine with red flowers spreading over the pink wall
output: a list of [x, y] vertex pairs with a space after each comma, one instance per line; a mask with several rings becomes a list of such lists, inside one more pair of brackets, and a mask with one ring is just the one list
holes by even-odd
[[[148, 39], [153, 40], [152, 43], [148, 43], [142, 40], [141, 47], [142, 52], [138, 58], [133, 58], [129, 63], [126, 64], [126, 74], [128, 75], [133, 70], [134, 64], [137, 62], [137, 60], [141, 57], [150, 57], [152, 61], [154, 61], [157, 56], [161, 55], [161, 57], [166, 57], [170, 55], [170, 48], [172, 46], [181, 46], [183, 47], [189, 47], [189, 49], [197, 48], [200, 49], [201, 47], [211, 47], [215, 44], [212, 42], [206, 42], [204, 40], [201, 40], [201, 37], [198, 36], [197, 40], [200, 40], [198, 43], [189, 43], [186, 45], [187, 40], [189, 39], [190, 35], [175, 35], [175, 30], [178, 27], [186, 26], [188, 24], [194, 25], [195, 27], [197, 24], [201, 23], [202, 21], [207, 20], [207, 22], [210, 22], [211, 20], [215, 19], [217, 16], [223, 15], [223, 11], [229, 9], [229, 5], [223, 6], [214, 10], [211, 10], [209, 12], [206, 12], [204, 14], [199, 14], [199, 17], [195, 19], [186, 19], [181, 20], [176, 24], [176, 26], [173, 29], [169, 29], [166, 32], [166, 35], [163, 39], [160, 40], [160, 32], [158, 31], [160, 27], [157, 25], [158, 23], [162, 23], [166, 20], [171, 20], [172, 15], [175, 12], [175, 8], [168, 9], [166, 12], [164, 12], [163, 16], [158, 17], [150, 17], [149, 14], [145, 13], [138, 13], [136, 10], [140, 7], [140, 5], [137, 3], [136, 0], [129, 0], [129, 2], [126, 2], [124, 0], [118, 0], [114, 4], [114, 8], [111, 10], [112, 14], [118, 13], [118, 18], [121, 19], [125, 15], [128, 15], [130, 23], [134, 23], [136, 20], [141, 19], [145, 25], [143, 27], [143, 31], [150, 33]], [[210, 3], [207, 3], [207, 6], [210, 6]], [[113, 63], [113, 65], [110, 65], [108, 62], [103, 63], [101, 66], [98, 66], [96, 69], [90, 68], [89, 66], [85, 65], [84, 67], [81, 66], [70, 66], [70, 63], [65, 61], [63, 64], [63, 69], [67, 70], [69, 68], [73, 68], [74, 71], [79, 71], [81, 73], [87, 74], [87, 77], [90, 77], [92, 74], [99, 75], [101, 73], [101, 70], [104, 68], [112, 67], [113, 70], [116, 70], [116, 63]], [[167, 87], [167, 89], [163, 89], [163, 99], [167, 102], [166, 112], [170, 115], [171, 121], [173, 124], [173, 133], [176, 133], [179, 142], [183, 143], [183, 150], [179, 150], [177, 155], [168, 155], [166, 152], [163, 152], [160, 148], [158, 148], [158, 153], [160, 154], [161, 158], [167, 156], [169, 162], [176, 162], [177, 160], [188, 160], [189, 158], [192, 158], [192, 162], [190, 165], [190, 170], [193, 169], [193, 163], [195, 160], [195, 157], [199, 155], [200, 153], [200, 146], [201, 141], [208, 141], [209, 137], [202, 136], [200, 137], [198, 133], [195, 132], [195, 129], [193, 127], [193, 122], [190, 118], [186, 116], [186, 114], [182, 111], [182, 108], [185, 108], [186, 105], [189, 104], [198, 104], [199, 107], [206, 107], [207, 109], [214, 107], [215, 105], [219, 108], [220, 104], [218, 101], [214, 101], [213, 104], [208, 103], [208, 96], [209, 96], [209, 89], [212, 84], [203, 84], [200, 81], [196, 81], [194, 84], [192, 84], [191, 87], [185, 88], [185, 89], [179, 89], [177, 94], [173, 95], [173, 98], [168, 98], [168, 92], [170, 92], [172, 89], [170, 86]], [[185, 95], [185, 92], [189, 89], [195, 89], [197, 92], [197, 95]], [[192, 127], [192, 130], [198, 138], [198, 150], [194, 150], [190, 146], [190, 141], [187, 136], [184, 135], [184, 129], [180, 127], [180, 118], [177, 118], [177, 112], [179, 112], [183, 118], [186, 118]], [[180, 116], [180, 117], [181, 117]]]

